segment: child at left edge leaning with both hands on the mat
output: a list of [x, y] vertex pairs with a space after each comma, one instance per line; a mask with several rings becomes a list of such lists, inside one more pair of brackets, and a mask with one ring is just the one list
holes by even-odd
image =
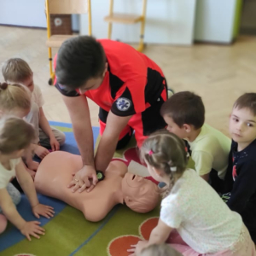
[[[23, 119], [7, 117], [0, 120], [0, 207], [5, 218], [9, 219], [29, 241], [31, 241], [30, 236], [39, 238], [39, 235], [44, 235], [44, 229], [39, 226], [38, 221], [27, 222], [20, 216], [6, 187], [9, 181], [16, 176], [30, 201], [33, 214], [37, 218], [39, 215], [45, 218], [53, 217], [53, 207], [39, 203], [32, 177], [26, 172], [20, 160], [34, 137], [32, 125]], [[3, 223], [3, 217], [0, 219]]]

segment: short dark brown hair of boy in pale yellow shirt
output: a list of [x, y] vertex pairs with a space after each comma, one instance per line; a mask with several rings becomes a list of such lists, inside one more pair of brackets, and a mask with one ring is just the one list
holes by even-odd
[[190, 91], [177, 92], [171, 96], [162, 105], [160, 114], [171, 117], [179, 127], [188, 124], [200, 129], [205, 122], [205, 107], [201, 96]]

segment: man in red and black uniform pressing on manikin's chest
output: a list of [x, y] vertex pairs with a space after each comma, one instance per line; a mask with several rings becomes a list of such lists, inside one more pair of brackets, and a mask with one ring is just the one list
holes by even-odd
[[[73, 191], [96, 186], [115, 149], [137, 145], [166, 126], [160, 107], [167, 98], [164, 74], [154, 61], [128, 44], [89, 36], [68, 39], [55, 56], [55, 87], [63, 95], [84, 167], [69, 184]], [[100, 107], [101, 141], [94, 157], [87, 97]]]

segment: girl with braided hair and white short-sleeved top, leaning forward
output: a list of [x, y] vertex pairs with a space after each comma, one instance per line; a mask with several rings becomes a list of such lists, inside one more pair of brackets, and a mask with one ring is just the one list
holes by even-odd
[[184, 256], [256, 255], [241, 216], [231, 212], [194, 170], [186, 168], [182, 139], [168, 131], [156, 132], [143, 143], [141, 157], [152, 177], [166, 183], [167, 189], [158, 225], [149, 241], [131, 246], [131, 255], [139, 255], [151, 244], [165, 243], [173, 230], [177, 230], [180, 237], [176, 241], [180, 242], [172, 244], [175, 241], [169, 238], [168, 243]]

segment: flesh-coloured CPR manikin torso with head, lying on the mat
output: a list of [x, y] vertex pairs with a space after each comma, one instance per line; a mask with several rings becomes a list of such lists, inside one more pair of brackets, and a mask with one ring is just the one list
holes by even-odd
[[127, 172], [127, 166], [119, 160], [109, 164], [105, 178], [89, 193], [73, 193], [67, 185], [73, 180], [73, 173], [81, 168], [79, 155], [61, 151], [48, 154], [38, 167], [36, 189], [43, 195], [65, 201], [94, 222], [102, 220], [119, 203], [125, 203], [135, 212], [149, 212], [158, 205], [160, 193], [157, 185]]

